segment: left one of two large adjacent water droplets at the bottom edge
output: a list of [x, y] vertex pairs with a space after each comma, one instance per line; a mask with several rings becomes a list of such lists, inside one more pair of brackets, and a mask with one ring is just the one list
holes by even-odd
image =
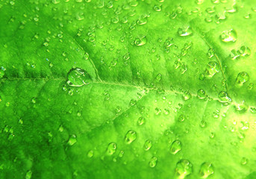
[[182, 159], [178, 161], [175, 168], [175, 175], [180, 179], [184, 179], [187, 175], [190, 175], [193, 172], [193, 165], [189, 160]]

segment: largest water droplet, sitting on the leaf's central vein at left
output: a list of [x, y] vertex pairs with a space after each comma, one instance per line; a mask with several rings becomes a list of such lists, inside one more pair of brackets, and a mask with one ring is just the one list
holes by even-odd
[[71, 87], [81, 87], [84, 84], [90, 84], [92, 79], [84, 69], [71, 69], [68, 73], [68, 81], [66, 82]]

